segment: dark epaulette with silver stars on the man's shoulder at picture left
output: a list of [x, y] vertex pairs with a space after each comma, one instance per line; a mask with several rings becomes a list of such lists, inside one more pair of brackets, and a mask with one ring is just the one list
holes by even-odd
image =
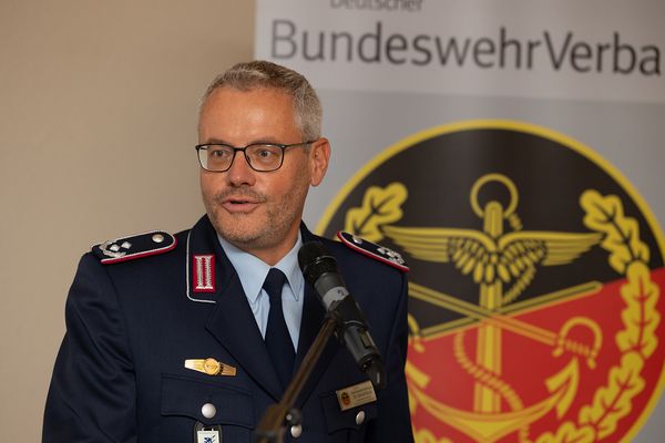
[[163, 230], [135, 234], [127, 237], [106, 240], [92, 247], [92, 251], [103, 265], [133, 260], [173, 250], [176, 239]]

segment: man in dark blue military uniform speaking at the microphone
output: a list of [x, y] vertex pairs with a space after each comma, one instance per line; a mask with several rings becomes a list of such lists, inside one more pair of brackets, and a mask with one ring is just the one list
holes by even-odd
[[402, 267], [367, 241], [347, 236], [347, 247], [300, 222], [330, 156], [320, 119], [309, 83], [286, 68], [242, 63], [214, 81], [196, 146], [207, 215], [175, 236], [124, 237], [83, 256], [44, 442], [252, 441], [323, 323], [325, 309], [297, 264], [311, 240], [327, 245], [365, 311], [388, 385], [375, 399], [331, 340], [296, 402], [303, 423], [286, 430], [287, 441], [412, 441], [407, 279], [389, 265]]

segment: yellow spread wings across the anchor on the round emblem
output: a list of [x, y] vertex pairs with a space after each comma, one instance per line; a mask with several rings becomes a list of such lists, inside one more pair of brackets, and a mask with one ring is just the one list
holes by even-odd
[[596, 245], [602, 234], [520, 230], [494, 239], [473, 229], [385, 226], [383, 231], [413, 258], [453, 261], [477, 284], [509, 282], [536, 266], [565, 265]]

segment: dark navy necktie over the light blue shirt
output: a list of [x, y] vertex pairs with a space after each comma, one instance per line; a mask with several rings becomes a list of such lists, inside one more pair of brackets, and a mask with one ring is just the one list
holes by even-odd
[[270, 268], [263, 288], [270, 299], [268, 311], [268, 326], [266, 327], [266, 348], [273, 360], [273, 365], [279, 375], [282, 387], [286, 389], [294, 372], [294, 360], [296, 353], [284, 320], [282, 309], [282, 288], [286, 282], [286, 276], [277, 268]]

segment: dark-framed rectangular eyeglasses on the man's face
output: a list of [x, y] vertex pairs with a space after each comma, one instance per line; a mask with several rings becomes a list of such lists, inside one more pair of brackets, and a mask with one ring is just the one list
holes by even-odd
[[205, 171], [214, 173], [223, 173], [231, 168], [233, 159], [238, 151], [241, 151], [247, 164], [254, 171], [259, 173], [268, 173], [277, 171], [284, 163], [284, 151], [288, 147], [306, 146], [315, 141], [291, 143], [290, 145], [280, 145], [277, 143], [253, 143], [245, 147], [235, 147], [224, 143], [209, 143], [196, 145], [198, 154], [198, 163]]

